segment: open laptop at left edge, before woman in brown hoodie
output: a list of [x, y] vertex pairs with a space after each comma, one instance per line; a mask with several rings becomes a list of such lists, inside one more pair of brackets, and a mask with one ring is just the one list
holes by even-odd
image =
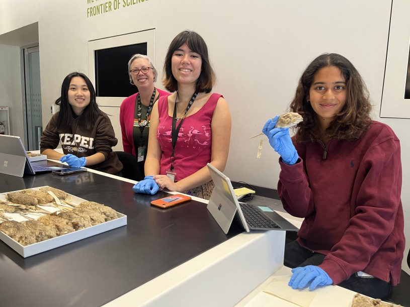
[[63, 168], [31, 162], [20, 137], [0, 135], [0, 173], [23, 177], [24, 174], [34, 175]]

